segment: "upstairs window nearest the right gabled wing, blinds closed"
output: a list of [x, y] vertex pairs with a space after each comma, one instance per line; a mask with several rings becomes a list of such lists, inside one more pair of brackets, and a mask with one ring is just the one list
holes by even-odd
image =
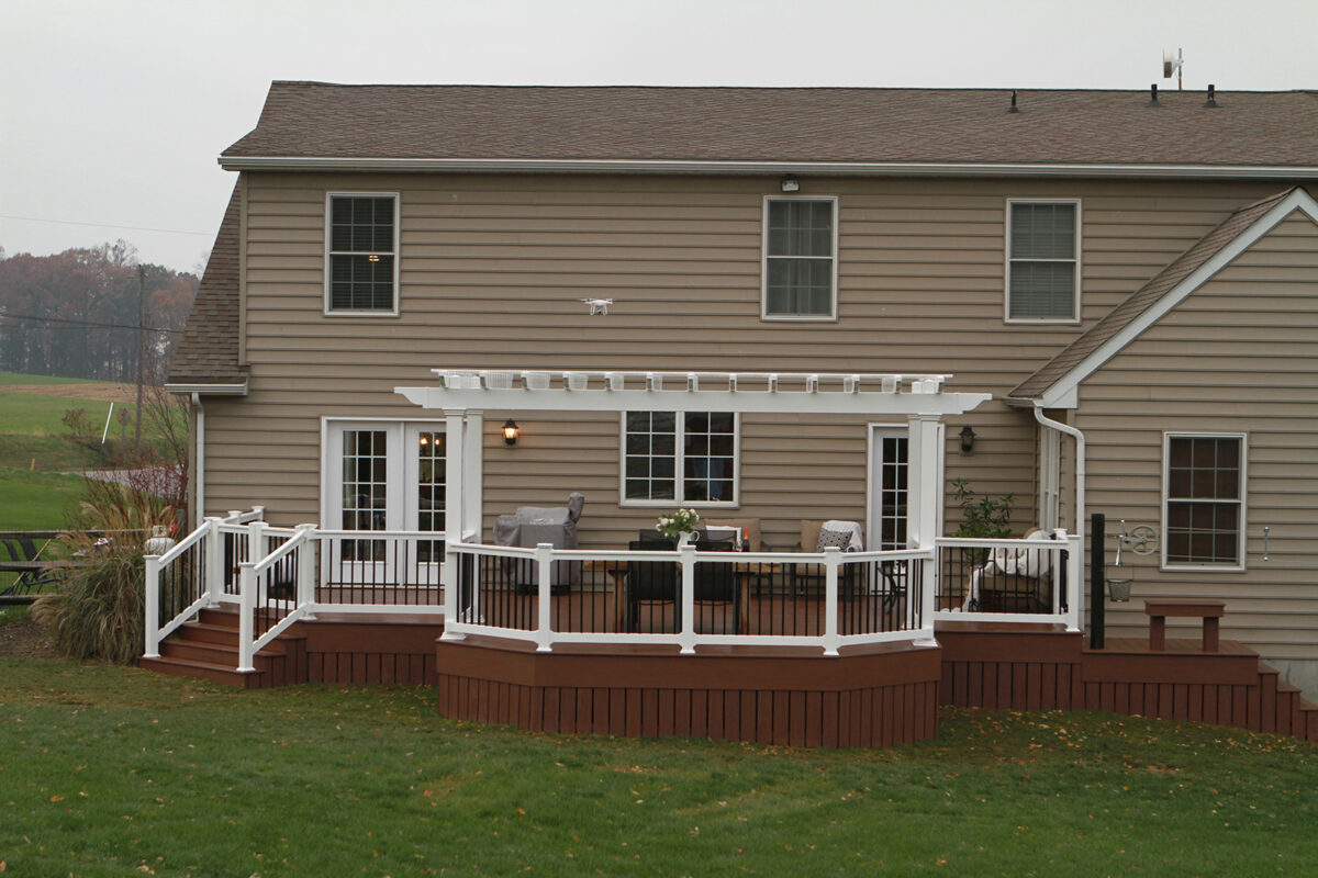
[[1079, 201], [1007, 203], [1007, 320], [1079, 320]]

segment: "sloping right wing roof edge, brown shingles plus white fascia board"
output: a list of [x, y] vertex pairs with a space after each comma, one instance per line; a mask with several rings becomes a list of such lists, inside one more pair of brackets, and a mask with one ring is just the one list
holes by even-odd
[[1318, 222], [1318, 201], [1301, 187], [1236, 211], [1007, 398], [1073, 408], [1081, 382], [1296, 211]]

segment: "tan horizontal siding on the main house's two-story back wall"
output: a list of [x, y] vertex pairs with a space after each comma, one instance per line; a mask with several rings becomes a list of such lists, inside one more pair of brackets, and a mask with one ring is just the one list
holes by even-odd
[[[763, 197], [776, 178], [249, 174], [245, 351], [250, 395], [208, 403], [207, 505], [320, 517], [320, 421], [419, 419], [393, 395], [436, 366], [940, 371], [1002, 396], [1269, 184], [803, 180], [838, 199], [838, 320], [766, 323]], [[398, 192], [397, 317], [323, 315], [326, 192]], [[1008, 197], [1083, 203], [1083, 321], [1003, 323]], [[580, 299], [616, 299], [589, 317]], [[486, 412], [485, 512], [581, 490], [585, 545], [618, 545], [655, 509], [619, 508], [614, 416]], [[883, 419], [870, 419], [883, 420]], [[974, 426], [971, 455], [958, 450]], [[1065, 448], [1065, 444], [1064, 444]], [[948, 479], [1012, 492], [1033, 523], [1035, 426], [998, 400], [948, 424]], [[742, 419], [741, 508], [764, 540], [801, 517], [865, 520], [865, 419]], [[1065, 483], [1065, 482], [1064, 482]], [[949, 505], [946, 529], [957, 527]], [[710, 511], [709, 517], [718, 512]], [[728, 515], [733, 515], [729, 512]]]

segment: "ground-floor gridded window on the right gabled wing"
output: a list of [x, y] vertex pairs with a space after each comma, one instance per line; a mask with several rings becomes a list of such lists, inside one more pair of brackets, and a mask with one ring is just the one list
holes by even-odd
[[1168, 565], [1242, 566], [1244, 437], [1168, 436]]

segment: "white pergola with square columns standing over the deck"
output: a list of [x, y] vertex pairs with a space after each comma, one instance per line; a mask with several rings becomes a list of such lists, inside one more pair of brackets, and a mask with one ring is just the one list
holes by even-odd
[[[950, 375], [867, 373], [705, 373], [436, 369], [434, 387], [398, 387], [407, 401], [444, 412], [445, 517], [480, 527], [481, 416], [486, 409], [523, 412], [735, 412], [796, 415], [904, 416], [909, 430], [911, 478], [907, 534], [911, 548], [932, 548], [938, 536], [942, 496], [940, 424], [990, 399], [988, 394], [949, 394]], [[471, 436], [472, 430], [476, 436]], [[472, 467], [474, 463], [476, 467]], [[474, 469], [474, 471], [469, 471]], [[474, 480], [474, 486], [473, 486]], [[476, 500], [478, 504], [478, 500]], [[452, 528], [449, 528], [452, 533]], [[452, 569], [453, 565], [445, 565]]]

